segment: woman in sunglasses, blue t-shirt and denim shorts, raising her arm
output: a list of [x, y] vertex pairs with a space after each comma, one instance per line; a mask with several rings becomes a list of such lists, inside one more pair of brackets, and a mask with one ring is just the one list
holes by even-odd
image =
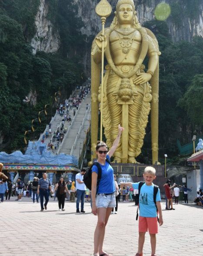
[[[92, 168], [92, 212], [98, 216], [97, 227], [94, 232], [94, 256], [110, 256], [103, 251], [103, 239], [105, 226], [111, 214], [112, 208], [116, 207], [115, 184], [113, 168], [106, 162], [110, 160], [119, 145], [120, 136], [124, 128], [118, 126], [118, 135], [113, 142], [112, 148], [108, 151], [106, 143], [99, 141], [96, 146], [97, 162], [102, 169], [99, 188], [97, 190], [98, 168]], [[96, 195], [97, 194], [97, 195]]]

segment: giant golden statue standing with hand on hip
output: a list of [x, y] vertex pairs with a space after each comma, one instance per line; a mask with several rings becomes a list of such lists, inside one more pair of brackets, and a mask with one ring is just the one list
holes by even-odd
[[[151, 110], [153, 164], [158, 161], [159, 46], [154, 34], [141, 27], [133, 0], [118, 0], [110, 27], [95, 37], [91, 51], [91, 143], [93, 158], [98, 137], [101, 101], [100, 69], [104, 41], [107, 65], [103, 78], [103, 127], [111, 147], [118, 124], [125, 128], [114, 153], [118, 163], [136, 163]], [[148, 70], [143, 61], [148, 56]], [[150, 84], [149, 84], [150, 82]]]

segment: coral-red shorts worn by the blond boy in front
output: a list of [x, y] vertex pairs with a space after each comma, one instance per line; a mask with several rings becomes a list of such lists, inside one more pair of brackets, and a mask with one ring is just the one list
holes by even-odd
[[150, 234], [158, 233], [158, 221], [157, 217], [142, 217], [139, 216], [139, 232], [147, 232]]

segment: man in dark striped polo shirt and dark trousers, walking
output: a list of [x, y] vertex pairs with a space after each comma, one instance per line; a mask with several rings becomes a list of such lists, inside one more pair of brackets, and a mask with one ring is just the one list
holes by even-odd
[[[43, 212], [43, 210], [47, 210], [47, 203], [49, 202], [49, 189], [50, 192], [52, 192], [51, 190], [51, 184], [50, 184], [50, 180], [47, 179], [47, 173], [44, 172], [43, 173], [43, 178], [41, 178], [38, 181], [38, 186], [37, 186], [37, 194], [40, 194], [40, 204], [41, 204], [41, 212]], [[43, 204], [44, 202], [44, 198], [45, 198], [45, 204]]]

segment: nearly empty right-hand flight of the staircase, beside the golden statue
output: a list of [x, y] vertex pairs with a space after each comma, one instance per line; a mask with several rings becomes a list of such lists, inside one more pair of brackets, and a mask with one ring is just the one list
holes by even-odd
[[[76, 116], [71, 121], [72, 124], [68, 128], [57, 154], [65, 153], [67, 155], [75, 155], [77, 158], [80, 157], [80, 147], [83, 147], [83, 141], [86, 138], [85, 131], [90, 127], [90, 103], [91, 93], [89, 92], [80, 104]], [[89, 104], [88, 110], [87, 104]]]

